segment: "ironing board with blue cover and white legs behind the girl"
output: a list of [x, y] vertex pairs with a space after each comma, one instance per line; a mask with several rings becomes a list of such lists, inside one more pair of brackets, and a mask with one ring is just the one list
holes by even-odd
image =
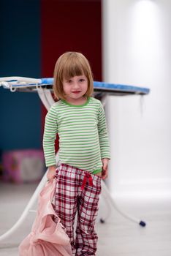
[[[24, 92], [37, 92], [39, 94], [39, 98], [41, 99], [43, 105], [47, 110], [50, 109], [51, 105], [54, 102], [51, 91], [53, 90], [53, 78], [24, 78], [24, 77], [5, 77], [0, 78], [0, 86], [4, 89], [9, 89], [12, 92], [15, 91], [24, 91]], [[104, 82], [96, 82], [94, 81], [94, 97], [101, 99], [102, 104], [105, 105], [107, 95], [115, 95], [115, 96], [125, 96], [129, 94], [137, 94], [137, 95], [145, 95], [149, 94], [150, 89], [140, 86], [129, 86], [129, 85], [121, 85], [114, 83], [104, 83]], [[56, 162], [58, 162], [58, 153], [56, 154]], [[42, 181], [40, 181], [37, 189], [32, 195], [31, 199], [28, 202], [23, 214], [21, 214], [18, 222], [15, 223], [6, 233], [0, 236], [0, 241], [3, 241], [5, 238], [11, 236], [15, 233], [16, 230], [22, 225], [26, 216], [31, 212], [34, 203], [37, 200], [39, 192], [42, 187], [44, 187], [45, 182], [47, 181], [46, 173], [42, 177]], [[128, 214], [123, 213], [118, 206], [115, 204], [113, 197], [111, 197], [110, 192], [107, 189], [106, 184], [102, 181], [102, 197], [105, 199], [105, 203], [107, 203], [108, 207], [113, 206], [116, 211], [118, 211], [123, 217], [131, 220], [132, 222], [136, 222], [142, 227], [145, 227], [146, 223], [140, 219], [136, 219], [134, 217], [129, 216]], [[105, 222], [104, 218], [101, 218], [100, 221], [102, 223]]]

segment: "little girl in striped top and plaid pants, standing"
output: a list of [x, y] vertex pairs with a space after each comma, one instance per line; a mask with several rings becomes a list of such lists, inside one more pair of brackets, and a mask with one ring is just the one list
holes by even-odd
[[101, 178], [107, 178], [110, 146], [104, 109], [98, 99], [91, 97], [93, 76], [83, 54], [67, 52], [58, 58], [53, 90], [58, 102], [47, 113], [43, 138], [47, 178], [57, 178], [56, 213], [66, 227], [73, 255], [92, 256], [96, 254], [94, 225]]

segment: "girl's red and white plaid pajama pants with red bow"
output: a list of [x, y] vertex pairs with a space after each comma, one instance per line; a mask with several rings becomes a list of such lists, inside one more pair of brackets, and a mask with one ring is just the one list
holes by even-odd
[[[70, 238], [75, 256], [96, 254], [97, 235], [94, 230], [101, 178], [70, 165], [56, 169], [55, 210]], [[74, 232], [75, 216], [77, 227]], [[76, 236], [74, 235], [76, 233]]]

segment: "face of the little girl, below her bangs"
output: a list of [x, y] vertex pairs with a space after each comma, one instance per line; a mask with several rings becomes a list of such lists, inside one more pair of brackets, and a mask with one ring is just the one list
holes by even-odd
[[78, 75], [68, 80], [63, 80], [65, 98], [68, 102], [77, 102], [83, 99], [88, 89], [88, 79], [85, 75]]

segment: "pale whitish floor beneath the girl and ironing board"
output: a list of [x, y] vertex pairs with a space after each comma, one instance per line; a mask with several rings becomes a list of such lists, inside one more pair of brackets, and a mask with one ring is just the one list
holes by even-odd
[[[11, 227], [23, 211], [36, 184], [10, 185], [0, 183], [0, 235]], [[148, 198], [144, 200], [117, 200], [123, 213], [144, 220], [147, 225], [141, 227], [129, 219], [123, 218], [115, 209], [108, 208], [101, 200], [96, 231], [99, 244], [96, 256], [170, 256], [171, 255], [171, 199]], [[104, 224], [100, 217], [110, 217]], [[26, 224], [1, 246], [1, 256], [17, 256], [16, 244], [29, 233], [34, 214], [26, 219]]]

